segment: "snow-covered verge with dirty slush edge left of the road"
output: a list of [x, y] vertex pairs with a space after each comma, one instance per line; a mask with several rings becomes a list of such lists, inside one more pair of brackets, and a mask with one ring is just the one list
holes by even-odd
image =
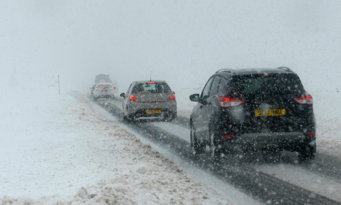
[[[83, 95], [73, 95], [18, 103], [14, 116], [2, 110], [8, 116], [0, 133], [6, 141], [0, 160], [2, 204], [226, 204], [97, 113]], [[24, 120], [18, 125], [14, 118]]]

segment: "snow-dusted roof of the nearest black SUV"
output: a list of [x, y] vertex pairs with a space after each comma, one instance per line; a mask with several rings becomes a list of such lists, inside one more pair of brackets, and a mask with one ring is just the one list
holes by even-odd
[[290, 68], [244, 68], [244, 69], [220, 69], [216, 73], [221, 75], [243, 75], [243, 74], [258, 74], [258, 73], [294, 73]]

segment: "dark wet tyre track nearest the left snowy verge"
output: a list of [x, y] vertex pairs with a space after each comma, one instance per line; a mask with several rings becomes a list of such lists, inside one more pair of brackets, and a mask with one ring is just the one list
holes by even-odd
[[[108, 104], [104, 108], [116, 117], [123, 119], [122, 110]], [[186, 120], [186, 118], [182, 118]], [[122, 120], [123, 121], [123, 120]], [[124, 122], [124, 121], [123, 121]], [[185, 121], [175, 121], [175, 124], [185, 125]], [[128, 124], [127, 124], [128, 125]], [[188, 141], [162, 130], [149, 123], [135, 123], [129, 126], [175, 156], [191, 163], [192, 165], [210, 172], [217, 178], [228, 182], [234, 187], [253, 196], [255, 199], [269, 204], [341, 204], [325, 196], [313, 193], [274, 176], [257, 171], [245, 163], [238, 163], [235, 160], [226, 160], [219, 165], [213, 165], [208, 153], [199, 158], [193, 157]]]

